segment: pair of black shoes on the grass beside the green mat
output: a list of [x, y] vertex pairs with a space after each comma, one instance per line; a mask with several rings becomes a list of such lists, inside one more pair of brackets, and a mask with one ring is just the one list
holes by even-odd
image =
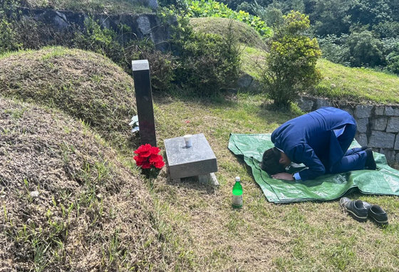
[[339, 204], [358, 221], [366, 221], [367, 217], [370, 216], [378, 224], [388, 224], [388, 215], [378, 205], [362, 202], [361, 200], [351, 200], [348, 197], [341, 198]]

